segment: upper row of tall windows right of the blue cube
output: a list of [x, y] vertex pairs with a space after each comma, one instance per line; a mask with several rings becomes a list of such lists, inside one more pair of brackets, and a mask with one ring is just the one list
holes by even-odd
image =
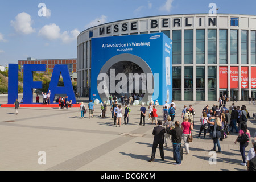
[[[196, 30], [196, 64], [217, 63], [217, 30], [207, 30], [207, 42], [205, 42], [205, 30]], [[228, 64], [228, 30], [219, 30], [219, 62]], [[241, 64], [248, 64], [248, 31], [241, 30]], [[173, 64], [181, 64], [181, 30], [172, 31]], [[207, 52], [205, 52], [207, 43]], [[251, 31], [251, 64], [256, 64], [256, 31]], [[238, 30], [230, 30], [230, 64], [238, 64]], [[184, 64], [193, 64], [193, 30], [184, 30]]]

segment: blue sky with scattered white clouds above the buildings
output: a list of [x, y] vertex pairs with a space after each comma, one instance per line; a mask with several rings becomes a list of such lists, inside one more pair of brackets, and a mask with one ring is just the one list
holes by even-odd
[[[145, 16], [209, 13], [256, 15], [255, 0], [0, 0], [0, 65], [27, 57], [77, 57], [77, 35], [87, 28]], [[98, 22], [100, 21], [100, 22]]]

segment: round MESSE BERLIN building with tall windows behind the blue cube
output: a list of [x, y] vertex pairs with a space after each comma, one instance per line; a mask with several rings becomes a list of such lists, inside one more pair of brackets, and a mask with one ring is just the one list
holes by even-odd
[[77, 92], [89, 96], [92, 38], [156, 32], [172, 40], [173, 100], [255, 97], [256, 16], [240, 14], [150, 16], [88, 28], [77, 38]]

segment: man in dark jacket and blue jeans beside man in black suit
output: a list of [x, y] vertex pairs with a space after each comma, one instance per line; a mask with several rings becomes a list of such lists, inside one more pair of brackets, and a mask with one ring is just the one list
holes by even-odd
[[182, 130], [180, 128], [180, 122], [175, 121], [175, 128], [168, 126], [166, 127], [166, 132], [171, 135], [172, 138], [172, 148], [174, 148], [174, 158], [176, 162], [174, 165], [181, 164], [181, 154], [180, 154], [180, 147], [181, 147], [181, 140], [182, 140]]

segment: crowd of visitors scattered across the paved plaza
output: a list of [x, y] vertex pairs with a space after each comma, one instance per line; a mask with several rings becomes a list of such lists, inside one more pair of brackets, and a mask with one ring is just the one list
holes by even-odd
[[[48, 104], [48, 100], [51, 92], [48, 94], [42, 93], [44, 96], [44, 104]], [[49, 96], [48, 96], [49, 95]], [[37, 96], [38, 97], [38, 96]], [[38, 101], [38, 98], [36, 98]], [[118, 104], [117, 97], [110, 96], [110, 113], [111, 118], [114, 120], [113, 125], [115, 127], [121, 127], [121, 123], [125, 125], [129, 124], [129, 115], [131, 113], [130, 105], [132, 104], [133, 96], [122, 98], [121, 104]], [[248, 169], [255, 170], [255, 139], [256, 133], [251, 136], [250, 131], [247, 129], [247, 119], [250, 118], [250, 113], [246, 109], [245, 105], [236, 106], [233, 102], [229, 109], [226, 107], [227, 101], [225, 97], [220, 98], [218, 105], [213, 106], [206, 105], [204, 108], [199, 110], [200, 116], [200, 130], [195, 138], [201, 139], [201, 134], [204, 130], [202, 139], [212, 139], [213, 148], [211, 151], [216, 153], [222, 153], [221, 141], [228, 138], [230, 133], [237, 134], [234, 143], [239, 143], [240, 153], [242, 156], [242, 166], [246, 166]], [[58, 97], [56, 100], [59, 103], [59, 109], [72, 107], [72, 101], [68, 101], [68, 97]], [[250, 100], [249, 100], [250, 104]], [[253, 103], [254, 104], [254, 103]], [[125, 105], [124, 107], [122, 105]], [[18, 114], [19, 102], [15, 102], [16, 114]], [[105, 118], [107, 112], [107, 103], [104, 101], [101, 103], [101, 114], [100, 117]], [[147, 108], [146, 108], [147, 107]], [[86, 107], [84, 102], [81, 102], [80, 108], [81, 118], [85, 118], [85, 113], [89, 110], [89, 118], [93, 118], [95, 106], [93, 100], [90, 100]], [[160, 111], [160, 112], [159, 112]], [[168, 147], [168, 140], [172, 142], [173, 154], [175, 159], [175, 165], [180, 165], [183, 160], [183, 147], [184, 154], [189, 154], [189, 143], [193, 140], [192, 131], [195, 128], [195, 114], [196, 111], [192, 105], [184, 105], [180, 118], [176, 115], [176, 104], [172, 101], [170, 104], [166, 101], [163, 106], [160, 106], [158, 102], [150, 101], [148, 106], [141, 104], [139, 108], [139, 125], [146, 125], [146, 117], [151, 120], [151, 125], [158, 125], [154, 127], [152, 134], [154, 135], [154, 142], [152, 145], [152, 154], [150, 162], [155, 159], [156, 148], [159, 146], [160, 156], [164, 160], [164, 147]], [[158, 119], [160, 113], [162, 113], [163, 119]], [[123, 118], [123, 121], [122, 121]], [[142, 122], [143, 121], [143, 122]], [[207, 136], [209, 134], [209, 136]], [[247, 157], [245, 148], [249, 146], [250, 138], [254, 147], [250, 148]]]

